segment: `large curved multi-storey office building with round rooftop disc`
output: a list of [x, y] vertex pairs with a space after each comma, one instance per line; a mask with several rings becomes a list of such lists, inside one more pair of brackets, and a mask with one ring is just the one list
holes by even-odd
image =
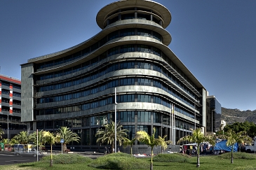
[[130, 139], [155, 127], [157, 136], [177, 141], [189, 128], [206, 127], [206, 89], [168, 48], [165, 6], [116, 1], [96, 21], [102, 31], [87, 41], [21, 65], [22, 121], [29, 130], [67, 126], [81, 136], [75, 148], [93, 148], [97, 130], [115, 121], [115, 88], [116, 120]]

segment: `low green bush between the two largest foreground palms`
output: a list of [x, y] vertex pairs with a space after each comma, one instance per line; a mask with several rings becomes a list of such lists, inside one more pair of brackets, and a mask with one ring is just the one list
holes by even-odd
[[189, 155], [182, 153], [159, 154], [153, 157], [154, 162], [188, 162]]

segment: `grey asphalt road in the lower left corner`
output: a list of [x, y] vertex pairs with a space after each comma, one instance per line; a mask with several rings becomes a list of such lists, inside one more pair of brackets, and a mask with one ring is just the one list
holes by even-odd
[[[41, 157], [39, 157], [39, 160]], [[20, 164], [26, 162], [36, 162], [37, 157], [33, 157], [33, 155], [19, 155], [16, 156], [13, 153], [3, 153], [0, 152], [0, 165], [4, 164]]]

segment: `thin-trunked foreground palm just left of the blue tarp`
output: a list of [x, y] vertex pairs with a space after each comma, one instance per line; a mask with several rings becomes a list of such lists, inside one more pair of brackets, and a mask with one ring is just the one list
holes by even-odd
[[191, 129], [192, 135], [184, 136], [182, 137], [177, 143], [182, 143], [184, 141], [188, 141], [189, 143], [196, 143], [197, 146], [197, 163], [196, 167], [200, 167], [200, 160], [199, 160], [199, 154], [200, 154], [200, 143], [208, 141], [211, 145], [215, 145], [215, 135], [214, 134], [209, 134], [209, 135], [204, 135], [201, 132], [201, 129], [196, 128], [195, 130]]

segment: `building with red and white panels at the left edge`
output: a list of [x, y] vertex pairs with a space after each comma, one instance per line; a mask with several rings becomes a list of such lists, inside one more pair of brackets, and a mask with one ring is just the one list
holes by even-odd
[[0, 75], [0, 127], [4, 129], [3, 139], [11, 139], [27, 123], [21, 122], [21, 87], [20, 80]]

